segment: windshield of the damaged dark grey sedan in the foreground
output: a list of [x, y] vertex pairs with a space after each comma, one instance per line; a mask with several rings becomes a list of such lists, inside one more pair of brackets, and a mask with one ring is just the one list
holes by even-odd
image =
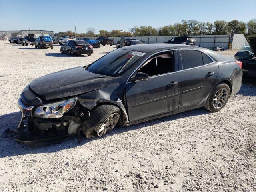
[[86, 70], [96, 74], [116, 77], [123, 74], [144, 54], [143, 52], [117, 49], [90, 64]]

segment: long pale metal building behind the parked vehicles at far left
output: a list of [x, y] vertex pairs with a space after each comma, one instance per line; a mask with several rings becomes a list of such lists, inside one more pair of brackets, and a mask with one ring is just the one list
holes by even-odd
[[53, 36], [53, 31], [45, 30], [20, 30], [20, 31], [0, 31], [0, 36], [6, 34], [6, 39], [12, 37], [24, 37], [24, 36], [33, 36], [38, 38], [38, 36]]

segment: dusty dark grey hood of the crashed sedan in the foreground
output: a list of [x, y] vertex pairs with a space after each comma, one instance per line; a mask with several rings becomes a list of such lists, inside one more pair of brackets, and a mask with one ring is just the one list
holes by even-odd
[[112, 77], [91, 73], [83, 66], [54, 72], [33, 80], [30, 89], [45, 100], [76, 96], [107, 87]]

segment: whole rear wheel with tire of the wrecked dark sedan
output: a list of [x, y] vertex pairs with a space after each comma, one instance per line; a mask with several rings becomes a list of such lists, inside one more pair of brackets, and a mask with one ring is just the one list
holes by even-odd
[[228, 102], [230, 96], [230, 88], [227, 84], [222, 83], [214, 87], [207, 98], [204, 108], [210, 112], [218, 112]]

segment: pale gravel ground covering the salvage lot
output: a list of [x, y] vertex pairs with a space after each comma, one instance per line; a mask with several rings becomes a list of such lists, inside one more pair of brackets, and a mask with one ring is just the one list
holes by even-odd
[[[16, 101], [33, 79], [89, 64], [92, 56], [60, 54], [0, 42], [0, 130], [16, 127]], [[221, 54], [234, 55], [228, 51]], [[198, 108], [113, 130], [103, 138], [36, 149], [0, 141], [0, 191], [256, 191], [256, 84], [244, 83], [225, 108]]]

